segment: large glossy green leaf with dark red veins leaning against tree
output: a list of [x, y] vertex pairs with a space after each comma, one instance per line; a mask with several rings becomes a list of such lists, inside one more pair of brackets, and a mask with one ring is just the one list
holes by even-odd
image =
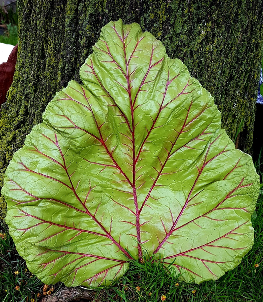
[[259, 179], [211, 95], [138, 24], [110, 22], [5, 177], [17, 250], [46, 283], [110, 284], [161, 255], [197, 283], [253, 244]]

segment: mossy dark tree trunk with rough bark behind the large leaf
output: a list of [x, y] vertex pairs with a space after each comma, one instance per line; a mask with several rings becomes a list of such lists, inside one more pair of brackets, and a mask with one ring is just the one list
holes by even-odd
[[[263, 0], [19, 0], [18, 61], [0, 112], [0, 186], [13, 153], [111, 20], [137, 22], [215, 98], [222, 126], [251, 152]], [[3, 200], [2, 200], [3, 201]], [[5, 204], [1, 203], [1, 216]]]

